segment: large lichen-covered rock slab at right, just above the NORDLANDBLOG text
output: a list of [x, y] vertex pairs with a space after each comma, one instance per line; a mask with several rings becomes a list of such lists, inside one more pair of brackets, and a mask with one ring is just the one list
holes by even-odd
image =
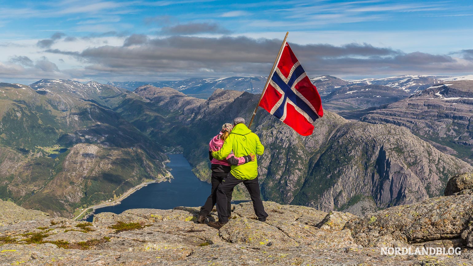
[[459, 238], [472, 217], [473, 196], [434, 197], [353, 219], [345, 228], [364, 247], [398, 247]]

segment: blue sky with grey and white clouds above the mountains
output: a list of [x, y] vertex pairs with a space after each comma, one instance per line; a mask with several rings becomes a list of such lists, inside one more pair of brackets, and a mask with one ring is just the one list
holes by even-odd
[[471, 1], [0, 1], [0, 81], [265, 75], [280, 41], [309, 76], [473, 72]]

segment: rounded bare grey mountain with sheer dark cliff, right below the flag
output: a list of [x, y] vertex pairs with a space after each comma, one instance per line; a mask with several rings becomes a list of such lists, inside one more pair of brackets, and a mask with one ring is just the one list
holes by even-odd
[[379, 208], [411, 204], [441, 195], [448, 177], [473, 169], [390, 124], [344, 124], [311, 158], [308, 177], [292, 204], [320, 210], [341, 208], [357, 195]]

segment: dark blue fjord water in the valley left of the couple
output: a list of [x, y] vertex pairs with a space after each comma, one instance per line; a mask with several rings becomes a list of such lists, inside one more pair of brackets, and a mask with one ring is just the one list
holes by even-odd
[[[176, 206], [196, 207], [210, 195], [210, 184], [199, 180], [182, 154], [168, 154], [173, 179], [171, 182], [152, 183], [131, 194], [121, 204], [96, 209], [95, 213], [122, 213], [129, 209], [172, 209]], [[93, 216], [87, 218], [92, 222]]]

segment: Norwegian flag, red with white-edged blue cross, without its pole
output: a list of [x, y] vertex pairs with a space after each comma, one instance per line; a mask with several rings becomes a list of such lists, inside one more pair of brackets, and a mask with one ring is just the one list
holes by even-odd
[[289, 44], [285, 44], [259, 106], [308, 136], [315, 119], [322, 117], [322, 101]]

